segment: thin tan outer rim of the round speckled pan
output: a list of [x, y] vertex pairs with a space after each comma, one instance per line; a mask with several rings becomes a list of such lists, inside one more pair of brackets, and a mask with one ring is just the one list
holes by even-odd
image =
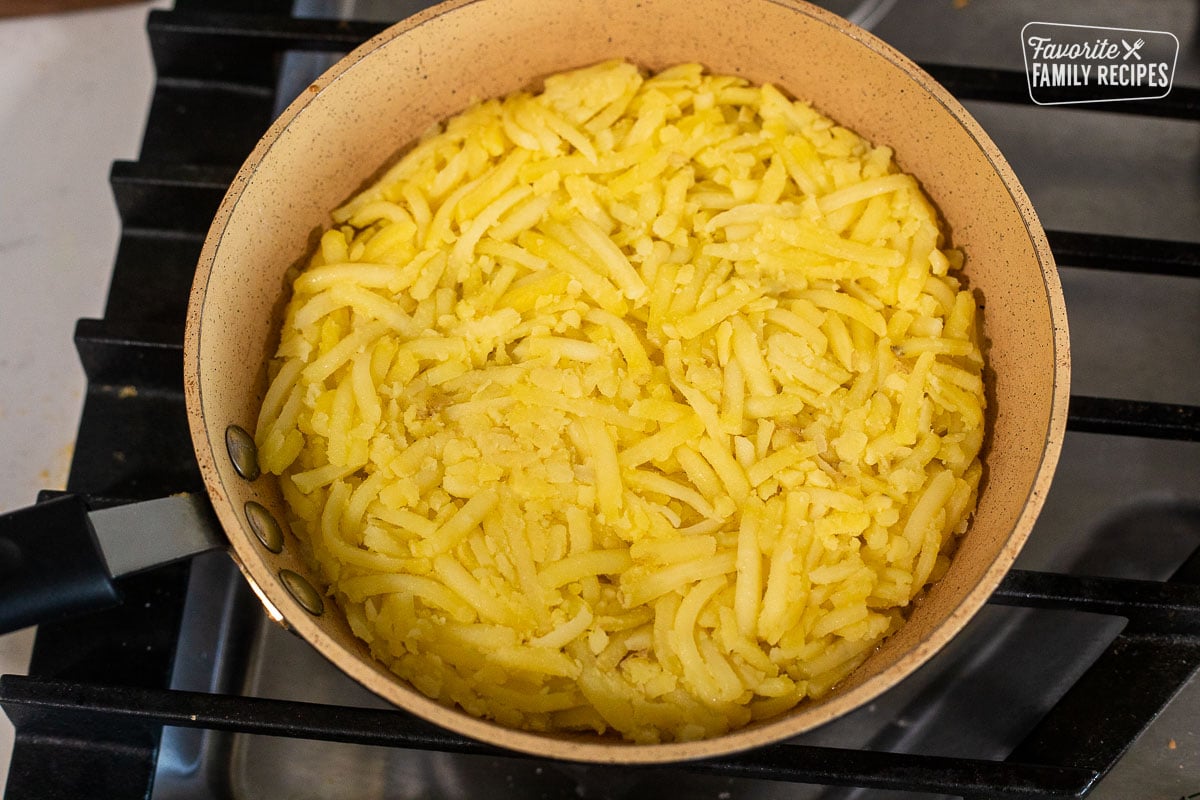
[[[374, 50], [389, 44], [394, 40], [404, 36], [421, 25], [439, 18], [444, 14], [454, 13], [461, 8], [488, 2], [490, 0], [450, 0], [442, 5], [428, 8], [409, 19], [406, 19], [385, 31], [372, 37], [360, 47], [355, 48], [347, 56], [341, 59], [331, 70], [323, 76], [318, 84], [322, 91], [326, 86], [340, 80], [347, 72], [353, 70], [362, 59]], [[865, 47], [875, 56], [882, 58], [892, 67], [902, 72], [912, 84], [922, 92], [935, 100], [942, 109], [962, 128], [971, 138], [983, 162], [992, 170], [995, 176], [1003, 184], [1014, 207], [1016, 209], [1030, 245], [1038, 260], [1042, 275], [1043, 288], [1049, 302], [1050, 321], [1052, 326], [1052, 356], [1054, 378], [1051, 383], [1051, 396], [1049, 402], [1049, 419], [1045, 421], [1046, 433], [1043, 450], [1037, 469], [1033, 470], [1033, 480], [1030, 485], [1027, 497], [1012, 531], [1003, 540], [997, 549], [991, 564], [983, 571], [980, 581], [972, 587], [965, 596], [954, 604], [953, 610], [936, 626], [934, 626], [914, 646], [899, 657], [888, 668], [872, 678], [851, 687], [836, 697], [811, 705], [808, 709], [793, 711], [790, 715], [773, 721], [752, 724], [736, 729], [724, 735], [686, 742], [666, 742], [655, 745], [635, 745], [625, 741], [595, 741], [576, 740], [563, 735], [547, 735], [527, 730], [508, 728], [498, 723], [469, 716], [458, 709], [448, 708], [419, 693], [402, 681], [389, 684], [386, 691], [380, 691], [376, 685], [379, 674], [377, 669], [362, 661], [358, 654], [347, 650], [334, 642], [316, 622], [313, 622], [300, 607], [282, 590], [268, 591], [269, 587], [262, 585], [251, 572], [251, 566], [246, 564], [242, 553], [239, 552], [240, 539], [232, 537], [235, 552], [235, 560], [246, 576], [247, 581], [256, 588], [256, 593], [269, 606], [269, 612], [277, 620], [288, 620], [290, 625], [316, 646], [326, 658], [332, 661], [340, 669], [350, 678], [368, 684], [373, 691], [379, 692], [385, 699], [398, 706], [416, 714], [438, 726], [451, 729], [456, 733], [472, 736], [486, 742], [503, 742], [503, 746], [515, 751], [530, 754], [546, 756], [547, 748], [554, 752], [548, 753], [559, 758], [571, 760], [608, 763], [608, 764], [662, 764], [671, 762], [690, 760], [696, 758], [713, 757], [718, 754], [731, 754], [734, 752], [763, 746], [769, 742], [778, 742], [787, 736], [812, 730], [830, 720], [842, 716], [847, 711], [858, 708], [871, 698], [887, 691], [895, 684], [904, 680], [913, 670], [929, 661], [941, 648], [954, 638], [961, 628], [971, 620], [988, 597], [995, 591], [1003, 576], [1012, 567], [1018, 552], [1032, 533], [1033, 522], [1037, 518], [1050, 480], [1058, 462], [1061, 445], [1066, 433], [1067, 404], [1069, 399], [1069, 341], [1067, 331], [1066, 306], [1062, 299], [1061, 284], [1054, 261], [1052, 253], [1046, 241], [1045, 234], [1037, 218], [1030, 198], [1020, 186], [1015, 173], [1004, 160], [998, 148], [992, 143], [971, 114], [955, 100], [943, 86], [941, 86], [929, 73], [912, 62], [889, 44], [878, 40], [874, 35], [853, 26], [841, 18], [805, 4], [793, 0], [766, 0], [770, 5], [780, 6], [787, 11], [800, 13], [810, 19], [827, 25], [842, 35], [853, 38], [860, 47]], [[212, 228], [205, 237], [204, 248], [200, 254], [196, 281], [188, 302], [187, 326], [185, 330], [185, 395], [188, 408], [188, 425], [197, 458], [200, 463], [202, 475], [205, 486], [214, 500], [221, 523], [227, 530], [240, 529], [242, 523], [236, 515], [236, 510], [228, 503], [229, 492], [226, 488], [224, 474], [217, 465], [218, 455], [222, 452], [223, 439], [215, 421], [206, 421], [204, 414], [204, 392], [202, 384], [202, 371], [199, 355], [202, 351], [202, 319], [205, 311], [208, 285], [216, 265], [217, 253], [230, 219], [234, 217], [239, 203], [244, 198], [245, 190], [253, 181], [256, 172], [262, 162], [268, 157], [271, 149], [281, 137], [290, 128], [292, 124], [301, 112], [316, 98], [319, 92], [302, 92], [293, 101], [280, 118], [272, 122], [266, 133], [258, 142], [246, 162], [239, 169], [230, 184], [229, 191], [223, 198], [221, 206], [214, 218]], [[215, 234], [215, 235], [214, 235]], [[1040, 427], [1040, 423], [1039, 423]]]

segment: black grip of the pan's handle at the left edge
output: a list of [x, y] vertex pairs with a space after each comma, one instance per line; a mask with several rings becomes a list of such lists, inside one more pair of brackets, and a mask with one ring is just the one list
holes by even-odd
[[0, 633], [120, 600], [83, 498], [0, 515]]

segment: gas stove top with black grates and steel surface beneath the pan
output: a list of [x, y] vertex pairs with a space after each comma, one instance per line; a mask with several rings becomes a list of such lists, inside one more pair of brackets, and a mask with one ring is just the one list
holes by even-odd
[[[140, 158], [112, 169], [122, 236], [108, 305], [76, 327], [88, 392], [70, 489], [103, 501], [202, 488], [179, 365], [208, 222], [282, 106], [419, 5], [179, 0], [151, 13], [158, 82]], [[0, 679], [18, 729], [5, 796], [1200, 793], [1200, 245], [1184, 243], [1200, 218], [1195, 5], [850, 5], [871, 6], [875, 32], [1006, 154], [1049, 229], [1072, 327], [1072, 433], [1045, 510], [949, 648], [775, 747], [566, 765], [395, 712], [268, 622], [227, 559], [203, 557], [127, 581], [119, 609], [40, 630], [29, 678]], [[1032, 106], [1019, 32], [1033, 20], [1171, 31], [1169, 102]]]

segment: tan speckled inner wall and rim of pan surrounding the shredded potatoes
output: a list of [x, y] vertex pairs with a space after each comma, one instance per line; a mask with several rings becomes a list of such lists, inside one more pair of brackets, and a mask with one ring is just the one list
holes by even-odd
[[[269, 477], [230, 464], [226, 431], [253, 431], [277, 341], [284, 272], [329, 211], [421, 131], [472, 100], [536, 86], [604, 59], [656, 70], [698, 61], [772, 82], [866, 138], [890, 145], [966, 251], [990, 342], [985, 483], [949, 573], [890, 638], [820, 703], [725, 736], [641, 746], [515, 732], [443, 708], [373, 662], [337, 609], [312, 615], [281, 570], [307, 572], [290, 534], [281, 553], [246, 524], [250, 500], [283, 515]], [[308, 88], [239, 172], [216, 216], [188, 309], [192, 437], [234, 558], [271, 613], [346, 673], [468, 736], [558, 758], [654, 763], [744, 750], [811, 729], [911, 673], [978, 610], [1027, 537], [1058, 458], [1067, 415], [1067, 321], [1055, 266], [1028, 198], [995, 145], [943, 89], [869, 34], [802, 2], [748, 0], [458, 0], [366, 43]]]

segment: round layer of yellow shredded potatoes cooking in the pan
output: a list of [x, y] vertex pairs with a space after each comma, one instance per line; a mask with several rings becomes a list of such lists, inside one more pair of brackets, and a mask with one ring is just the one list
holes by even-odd
[[976, 303], [886, 146], [607, 62], [332, 212], [258, 422], [371, 651], [534, 730], [719, 735], [828, 692], [947, 570]]

